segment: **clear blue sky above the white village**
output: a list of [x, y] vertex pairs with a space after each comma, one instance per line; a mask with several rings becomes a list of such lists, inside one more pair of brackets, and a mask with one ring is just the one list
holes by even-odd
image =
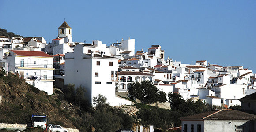
[[73, 41], [136, 39], [136, 51], [160, 44], [182, 63], [208, 60], [256, 72], [256, 0], [1, 0], [0, 28], [24, 37]]

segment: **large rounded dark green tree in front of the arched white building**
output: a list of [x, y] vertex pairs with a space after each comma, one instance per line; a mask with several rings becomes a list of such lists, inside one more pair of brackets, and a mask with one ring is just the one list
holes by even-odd
[[133, 82], [129, 88], [130, 98], [137, 98], [143, 103], [166, 102], [166, 93], [159, 91], [151, 81]]

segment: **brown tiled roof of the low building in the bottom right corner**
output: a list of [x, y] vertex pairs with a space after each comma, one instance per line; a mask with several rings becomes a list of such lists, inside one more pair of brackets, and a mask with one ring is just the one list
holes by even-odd
[[204, 112], [200, 114], [195, 114], [188, 117], [182, 117], [181, 121], [190, 120], [255, 120], [256, 115], [248, 114], [239, 110], [215, 110]]

